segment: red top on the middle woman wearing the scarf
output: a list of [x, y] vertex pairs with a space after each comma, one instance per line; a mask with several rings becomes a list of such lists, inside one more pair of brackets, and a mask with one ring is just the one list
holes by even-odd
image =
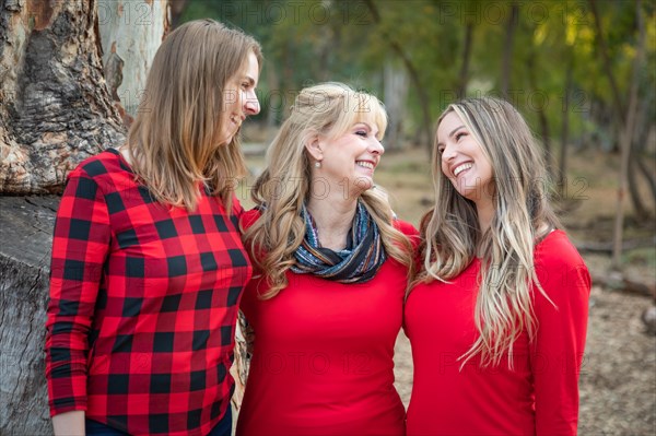
[[237, 435], [403, 435], [393, 357], [406, 275], [390, 258], [362, 284], [288, 272], [267, 301], [254, 279], [241, 303], [256, 339]]

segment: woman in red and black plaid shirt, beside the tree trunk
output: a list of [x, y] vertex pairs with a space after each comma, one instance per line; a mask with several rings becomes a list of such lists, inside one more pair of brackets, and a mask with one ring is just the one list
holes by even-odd
[[157, 49], [127, 143], [69, 175], [46, 335], [56, 435], [231, 434], [251, 274], [233, 189], [260, 64], [241, 31], [181, 25]]

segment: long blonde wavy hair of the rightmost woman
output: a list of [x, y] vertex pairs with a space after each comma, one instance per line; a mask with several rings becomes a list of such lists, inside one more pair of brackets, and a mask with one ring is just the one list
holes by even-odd
[[513, 343], [527, 331], [532, 341], [538, 325], [532, 288], [539, 290], [534, 246], [560, 223], [549, 203], [549, 177], [540, 146], [526, 121], [507, 102], [480, 97], [449, 105], [479, 143], [494, 175], [495, 212], [481, 233], [476, 205], [460, 196], [442, 173], [437, 139], [433, 148], [435, 207], [422, 219], [423, 266], [419, 282], [447, 282], [478, 255], [481, 259], [475, 322], [479, 337], [460, 356], [465, 365], [480, 355], [481, 366], [496, 366], [504, 355], [513, 366]]

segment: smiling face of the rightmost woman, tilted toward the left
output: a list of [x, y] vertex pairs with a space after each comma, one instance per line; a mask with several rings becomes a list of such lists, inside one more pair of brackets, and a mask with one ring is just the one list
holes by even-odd
[[442, 156], [442, 173], [460, 196], [478, 208], [492, 203], [494, 174], [488, 156], [460, 117], [450, 111], [437, 127], [437, 152]]

